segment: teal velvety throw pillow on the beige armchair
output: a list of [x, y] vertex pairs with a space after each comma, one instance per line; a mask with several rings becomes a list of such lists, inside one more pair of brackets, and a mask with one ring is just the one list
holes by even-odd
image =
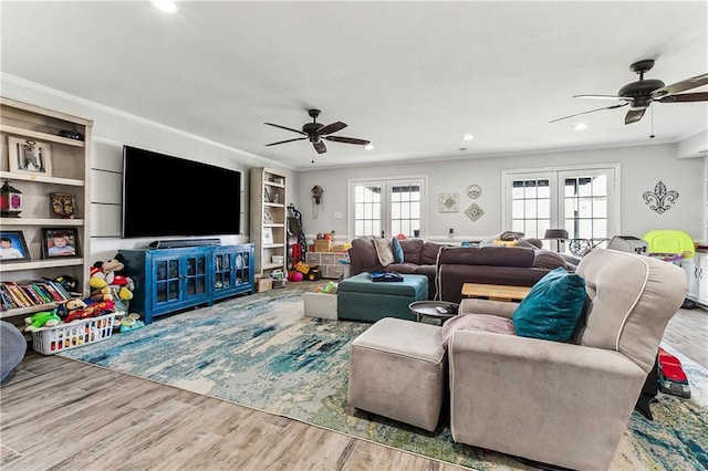
[[585, 304], [585, 280], [562, 268], [550, 271], [533, 285], [513, 313], [520, 337], [568, 342]]

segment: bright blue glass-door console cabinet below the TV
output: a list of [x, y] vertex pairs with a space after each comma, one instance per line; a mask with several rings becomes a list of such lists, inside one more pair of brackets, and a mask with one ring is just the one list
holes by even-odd
[[135, 283], [129, 312], [153, 317], [253, 292], [254, 248], [237, 245], [118, 251]]

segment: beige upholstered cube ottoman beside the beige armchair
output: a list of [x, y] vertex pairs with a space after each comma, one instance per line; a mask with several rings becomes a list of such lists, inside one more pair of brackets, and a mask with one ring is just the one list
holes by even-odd
[[352, 343], [348, 405], [435, 430], [447, 384], [440, 331], [393, 317], [374, 323]]

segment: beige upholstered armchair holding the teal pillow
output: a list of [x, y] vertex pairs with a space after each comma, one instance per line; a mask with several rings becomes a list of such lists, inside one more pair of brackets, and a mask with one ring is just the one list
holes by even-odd
[[[608, 469], [686, 295], [686, 275], [671, 263], [604, 249], [585, 255], [577, 273], [590, 302], [569, 343], [452, 332], [455, 441], [564, 468]], [[459, 312], [511, 318], [517, 305], [464, 300]]]

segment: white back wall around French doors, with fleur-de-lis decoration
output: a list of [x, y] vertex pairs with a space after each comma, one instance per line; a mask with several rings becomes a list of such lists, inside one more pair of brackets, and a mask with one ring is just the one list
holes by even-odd
[[[337, 240], [351, 240], [347, 234], [347, 181], [365, 177], [427, 176], [426, 211], [430, 240], [449, 240], [448, 229], [455, 229], [455, 240], [468, 240], [496, 234], [510, 228], [501, 220], [501, 171], [527, 168], [568, 167], [572, 165], [620, 164], [621, 166], [621, 233], [641, 238], [653, 229], [677, 229], [697, 240], [702, 232], [702, 159], [676, 158], [676, 145], [647, 145], [612, 149], [563, 151], [527, 156], [469, 158], [464, 160], [410, 163], [402, 165], [365, 166], [353, 169], [308, 170], [299, 172], [296, 201], [303, 213], [308, 238], [317, 232], [336, 231]], [[663, 214], [649, 209], [642, 195], [654, 191], [658, 181], [679, 198]], [[485, 214], [472, 222], [465, 209], [472, 203], [467, 187], [478, 184], [480, 198], [473, 200]], [[317, 218], [313, 218], [310, 189], [319, 185], [324, 189], [323, 203]], [[459, 212], [438, 212], [439, 193], [459, 193]], [[342, 219], [334, 219], [342, 212]]]

